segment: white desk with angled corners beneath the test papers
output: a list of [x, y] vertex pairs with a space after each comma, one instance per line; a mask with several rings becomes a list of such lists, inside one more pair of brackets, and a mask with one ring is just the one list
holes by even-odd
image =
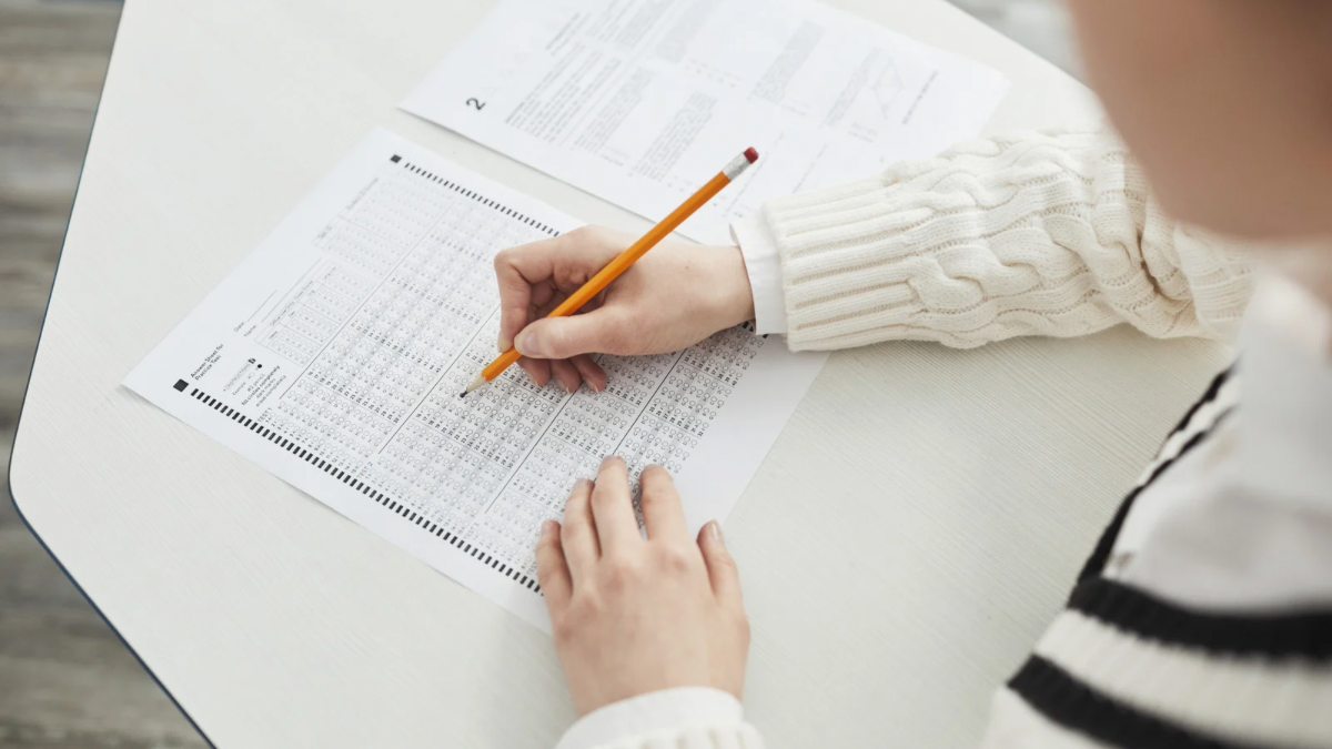
[[[1096, 116], [942, 0], [835, 3], [1003, 69], [991, 129]], [[645, 223], [394, 105], [485, 1], [132, 0], [17, 436], [33, 530], [218, 746], [541, 746], [546, 636], [117, 384], [373, 125]], [[1227, 352], [1119, 331], [834, 356], [726, 526], [774, 746], [966, 746]]]

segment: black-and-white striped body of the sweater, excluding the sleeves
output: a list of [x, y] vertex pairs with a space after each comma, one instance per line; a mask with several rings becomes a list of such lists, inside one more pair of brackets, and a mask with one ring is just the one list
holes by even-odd
[[987, 746], [1332, 746], [1332, 323], [1301, 293], [1255, 299], [1240, 364], [1119, 508]]

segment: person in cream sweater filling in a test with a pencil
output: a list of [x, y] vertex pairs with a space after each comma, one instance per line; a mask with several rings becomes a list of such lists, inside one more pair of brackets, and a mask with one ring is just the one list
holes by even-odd
[[[1332, 3], [1070, 8], [1114, 133], [978, 140], [775, 200], [733, 227], [737, 247], [665, 243], [562, 320], [538, 317], [631, 237], [505, 251], [500, 348], [538, 384], [601, 390], [590, 353], [750, 319], [793, 349], [1237, 333], [1237, 367], [1124, 500], [983, 744], [1332, 746]], [[687, 534], [665, 470], [641, 485], [645, 536], [614, 457], [542, 529], [581, 716], [559, 748], [762, 746], [721, 529]]]

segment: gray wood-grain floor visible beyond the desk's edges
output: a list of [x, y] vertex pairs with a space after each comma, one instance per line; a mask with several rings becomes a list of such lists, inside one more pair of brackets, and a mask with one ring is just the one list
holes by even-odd
[[[1075, 71], [1055, 0], [954, 0]], [[120, 4], [0, 0], [0, 484]], [[204, 741], [0, 501], [0, 748]]]

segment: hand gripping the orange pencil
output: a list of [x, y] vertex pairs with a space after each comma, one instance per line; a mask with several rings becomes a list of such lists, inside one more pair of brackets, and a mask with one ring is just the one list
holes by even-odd
[[538, 386], [554, 376], [569, 392], [585, 380], [601, 392], [606, 373], [589, 353], [679, 351], [754, 317], [738, 247], [667, 240], [583, 305], [582, 313], [543, 319], [633, 241], [611, 229], [583, 227], [496, 256], [500, 351], [517, 345], [523, 355], [519, 367]]

